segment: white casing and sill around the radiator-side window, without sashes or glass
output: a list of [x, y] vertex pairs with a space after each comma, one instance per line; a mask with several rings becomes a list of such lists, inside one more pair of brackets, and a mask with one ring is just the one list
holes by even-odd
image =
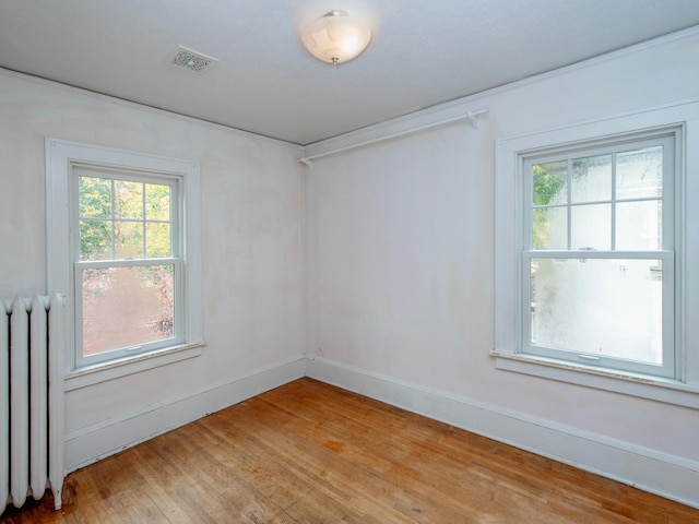
[[[83, 359], [78, 355], [76, 319], [80, 299], [74, 294], [78, 274], [73, 226], [76, 219], [76, 176], [73, 166], [105, 167], [108, 170], [158, 176], [167, 174], [176, 180], [179, 202], [177, 212], [183, 225], [180, 260], [181, 318], [180, 336], [164, 347], [129, 355], [128, 352], [106, 361]], [[128, 176], [128, 175], [127, 175]], [[201, 188], [199, 165], [194, 162], [168, 158], [112, 147], [83, 144], [57, 139], [46, 139], [46, 191], [47, 191], [47, 288], [71, 298], [71, 312], [67, 325], [66, 355], [67, 391], [116, 377], [163, 366], [201, 355], [203, 343], [202, 282], [201, 282]], [[72, 235], [72, 236], [71, 236]], [[71, 247], [73, 251], [71, 251]], [[110, 262], [114, 264], [114, 262]], [[78, 322], [79, 323], [79, 322]]]

